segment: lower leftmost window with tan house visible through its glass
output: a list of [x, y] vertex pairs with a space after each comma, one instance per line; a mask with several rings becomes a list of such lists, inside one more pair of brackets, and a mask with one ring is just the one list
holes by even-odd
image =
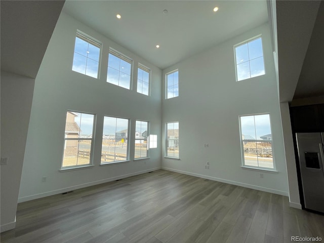
[[62, 168], [92, 164], [94, 115], [66, 112]]

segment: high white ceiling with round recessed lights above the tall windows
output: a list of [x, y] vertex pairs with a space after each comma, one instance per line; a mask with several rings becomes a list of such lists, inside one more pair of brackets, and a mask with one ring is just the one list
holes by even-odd
[[265, 0], [66, 1], [63, 12], [161, 69], [268, 21]]

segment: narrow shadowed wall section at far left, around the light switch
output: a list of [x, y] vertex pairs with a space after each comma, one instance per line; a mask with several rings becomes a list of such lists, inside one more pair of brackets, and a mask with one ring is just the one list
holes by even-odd
[[35, 80], [1, 71], [1, 232], [13, 229]]

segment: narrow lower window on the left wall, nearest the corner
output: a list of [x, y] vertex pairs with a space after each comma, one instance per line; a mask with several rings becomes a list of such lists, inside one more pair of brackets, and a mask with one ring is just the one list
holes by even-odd
[[134, 158], [146, 158], [147, 157], [147, 134], [148, 134], [148, 122], [136, 121], [135, 128], [135, 156]]

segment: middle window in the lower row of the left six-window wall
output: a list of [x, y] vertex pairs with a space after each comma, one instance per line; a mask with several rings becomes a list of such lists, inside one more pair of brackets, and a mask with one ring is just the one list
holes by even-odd
[[129, 120], [104, 116], [101, 164], [128, 160]]

